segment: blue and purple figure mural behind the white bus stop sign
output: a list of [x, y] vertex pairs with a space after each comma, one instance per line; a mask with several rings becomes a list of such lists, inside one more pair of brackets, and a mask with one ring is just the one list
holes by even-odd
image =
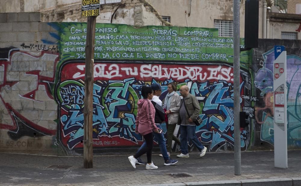
[[[273, 61], [275, 58], [274, 49], [271, 49], [262, 54], [264, 61], [255, 77], [255, 87], [259, 88], [263, 96], [263, 107], [255, 107], [256, 122], [260, 124], [260, 138], [262, 141], [274, 144], [274, 95], [273, 95]], [[296, 55], [287, 56], [287, 118], [288, 118], [288, 145], [301, 146], [301, 139], [297, 135], [300, 123], [301, 110], [299, 108], [300, 98], [300, 77], [299, 68], [301, 58]]]

